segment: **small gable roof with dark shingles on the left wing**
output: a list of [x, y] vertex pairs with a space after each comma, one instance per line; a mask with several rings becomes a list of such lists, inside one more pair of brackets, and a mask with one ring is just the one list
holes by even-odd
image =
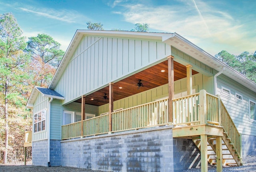
[[26, 108], [33, 108], [34, 101], [36, 100], [36, 97], [38, 93], [41, 93], [43, 97], [49, 97], [49, 98], [56, 98], [59, 100], [64, 100], [65, 98], [60, 95], [58, 92], [54, 90], [50, 90], [48, 88], [38, 87], [34, 86], [32, 93], [28, 99], [28, 102], [26, 104]]

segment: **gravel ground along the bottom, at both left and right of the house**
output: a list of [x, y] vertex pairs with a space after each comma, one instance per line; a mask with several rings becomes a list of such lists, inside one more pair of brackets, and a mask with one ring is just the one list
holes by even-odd
[[[28, 162], [28, 164], [31, 162]], [[0, 164], [0, 172], [101, 172], [95, 170], [88, 170], [84, 168], [73, 168], [73, 167], [42, 167], [32, 166], [31, 164], [24, 166], [24, 162], [18, 164]], [[201, 168], [191, 168], [184, 170], [183, 172], [201, 172]], [[208, 172], [216, 172], [216, 166], [208, 166]], [[223, 167], [223, 172], [256, 172], [256, 151], [251, 152], [248, 156], [243, 159], [243, 165], [238, 166], [227, 166]]]

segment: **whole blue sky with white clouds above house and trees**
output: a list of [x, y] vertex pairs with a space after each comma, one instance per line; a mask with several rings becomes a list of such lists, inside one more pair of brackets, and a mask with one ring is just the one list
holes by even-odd
[[0, 14], [12, 12], [26, 37], [48, 34], [64, 51], [91, 21], [105, 30], [148, 23], [150, 32], [177, 32], [212, 55], [252, 54], [255, 9], [255, 0], [0, 0]]

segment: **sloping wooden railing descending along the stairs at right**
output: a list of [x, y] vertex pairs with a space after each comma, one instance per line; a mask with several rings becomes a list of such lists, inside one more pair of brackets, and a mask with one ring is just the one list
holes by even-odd
[[233, 144], [235, 150], [237, 151], [238, 155], [241, 155], [241, 145], [242, 145], [242, 136], [238, 132], [233, 120], [231, 119], [227, 109], [225, 108], [224, 104], [220, 100], [220, 109], [221, 109], [221, 118], [222, 118], [222, 126], [224, 132], [230, 139], [230, 142]]

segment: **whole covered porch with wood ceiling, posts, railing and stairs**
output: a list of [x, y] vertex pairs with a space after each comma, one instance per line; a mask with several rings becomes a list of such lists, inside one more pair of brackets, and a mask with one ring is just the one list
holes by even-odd
[[[241, 136], [218, 96], [206, 90], [196, 90], [193, 94], [192, 75], [198, 73], [191, 65], [184, 66], [170, 56], [168, 60], [82, 96], [75, 101], [81, 103], [82, 120], [62, 126], [62, 140], [173, 125], [173, 137], [192, 139], [200, 150], [202, 171], [207, 171], [208, 162], [215, 163], [218, 172], [222, 171], [222, 164], [230, 159], [223, 158], [223, 145], [240, 166]], [[175, 96], [174, 82], [183, 78], [186, 78], [186, 96], [182, 93]], [[137, 102], [139, 105], [132, 107], [126, 107], [128, 101], [124, 108], [114, 109], [117, 100], [158, 86], [167, 87], [166, 96]], [[105, 113], [85, 119], [85, 104], [105, 106]], [[208, 154], [209, 146], [215, 154]]]

